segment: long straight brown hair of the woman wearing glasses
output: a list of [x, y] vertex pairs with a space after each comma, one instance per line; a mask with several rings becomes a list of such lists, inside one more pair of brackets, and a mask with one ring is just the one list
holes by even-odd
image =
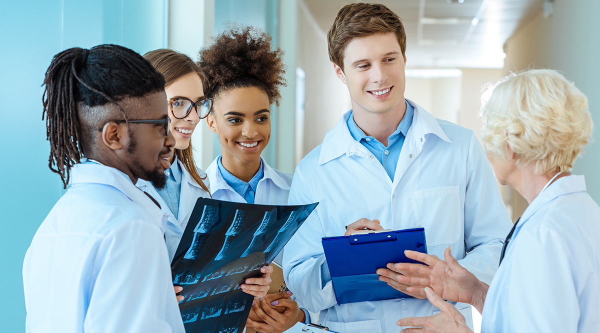
[[[206, 74], [204, 74], [202, 69], [187, 55], [169, 49], [158, 49], [146, 53], [144, 58], [163, 74], [165, 86], [172, 85], [176, 80], [181, 79], [187, 74], [196, 73], [200, 76], [200, 80], [202, 80], [204, 94], [207, 94], [208, 79], [206, 79]], [[203, 179], [206, 179], [206, 176], [202, 178], [196, 169], [191, 142], [188, 148], [175, 149], [175, 155], [179, 158], [181, 163], [184, 164], [185, 169], [190, 172], [191, 178], [193, 178], [203, 190], [209, 192], [208, 187], [203, 182]]]

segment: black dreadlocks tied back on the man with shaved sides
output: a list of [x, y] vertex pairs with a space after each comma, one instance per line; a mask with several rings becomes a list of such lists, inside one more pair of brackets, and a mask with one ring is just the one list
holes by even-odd
[[48, 166], [61, 176], [66, 188], [71, 167], [85, 157], [84, 147], [93, 143], [93, 129], [82, 126], [81, 118], [98, 118], [80, 114], [79, 106], [112, 103], [127, 121], [117, 102], [163, 90], [164, 78], [133, 50], [104, 44], [89, 50], [73, 47], [55, 55], [43, 86], [42, 119], [46, 118], [46, 139], [50, 142]]

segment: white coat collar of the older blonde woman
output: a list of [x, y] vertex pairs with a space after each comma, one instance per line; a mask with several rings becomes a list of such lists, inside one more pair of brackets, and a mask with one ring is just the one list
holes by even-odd
[[586, 179], [583, 175], [571, 175], [556, 179], [550, 184], [542, 193], [538, 194], [535, 199], [527, 206], [527, 209], [521, 215], [519, 225], [515, 229], [520, 230], [523, 224], [532, 217], [533, 214], [539, 211], [542, 207], [550, 203], [554, 199], [565, 194], [585, 192], [586, 191]]

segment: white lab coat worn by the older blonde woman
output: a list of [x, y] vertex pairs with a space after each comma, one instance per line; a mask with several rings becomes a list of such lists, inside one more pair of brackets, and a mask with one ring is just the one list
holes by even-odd
[[521, 216], [481, 332], [600, 331], [600, 207], [583, 176], [557, 179]]

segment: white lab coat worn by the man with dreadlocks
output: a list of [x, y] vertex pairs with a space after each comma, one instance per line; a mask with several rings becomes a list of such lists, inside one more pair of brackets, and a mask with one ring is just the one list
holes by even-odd
[[76, 164], [25, 254], [26, 332], [185, 332], [166, 220], [118, 170]]

